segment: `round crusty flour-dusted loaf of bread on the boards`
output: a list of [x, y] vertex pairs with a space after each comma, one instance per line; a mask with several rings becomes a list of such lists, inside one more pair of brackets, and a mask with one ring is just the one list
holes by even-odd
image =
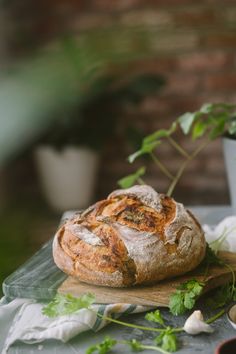
[[137, 185], [65, 222], [55, 235], [53, 257], [80, 281], [128, 287], [194, 269], [205, 248], [202, 228], [183, 204]]

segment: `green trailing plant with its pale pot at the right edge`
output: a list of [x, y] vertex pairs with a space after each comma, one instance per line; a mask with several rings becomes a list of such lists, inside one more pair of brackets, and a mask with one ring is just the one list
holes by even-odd
[[[189, 152], [176, 140], [176, 131], [190, 135], [193, 140], [199, 140], [194, 151]], [[128, 157], [130, 163], [143, 155], [149, 155], [158, 168], [170, 180], [167, 195], [171, 196], [176, 184], [183, 175], [188, 164], [204, 149], [212, 140], [223, 138], [226, 170], [229, 182], [231, 203], [236, 213], [236, 105], [226, 103], [204, 104], [198, 111], [187, 112], [173, 121], [169, 129], [160, 129], [146, 136], [142, 140], [140, 149]], [[158, 146], [168, 142], [182, 155], [183, 162], [176, 174], [173, 174], [159, 159]], [[146, 167], [140, 167], [135, 173], [122, 178], [118, 183], [127, 188], [137, 181], [143, 182]]]

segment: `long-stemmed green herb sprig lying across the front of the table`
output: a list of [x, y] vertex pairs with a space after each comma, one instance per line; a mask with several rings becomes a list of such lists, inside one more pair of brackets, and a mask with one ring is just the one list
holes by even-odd
[[[196, 285], [194, 287], [196, 287]], [[158, 335], [154, 338], [154, 343], [152, 345], [143, 344], [137, 341], [136, 339], [119, 341], [110, 337], [105, 337], [101, 343], [90, 346], [87, 349], [86, 354], [92, 354], [95, 352], [98, 354], [106, 354], [117, 344], [128, 345], [132, 351], [153, 350], [159, 353], [169, 354], [171, 352], [175, 352], [178, 349], [178, 338], [176, 334], [182, 331], [187, 332], [184, 327], [168, 326], [165, 323], [160, 310], [155, 310], [145, 315], [145, 319], [147, 321], [155, 325], [159, 324], [160, 327], [139, 326], [99, 314], [91, 306], [94, 302], [95, 297], [93, 296], [93, 294], [84, 294], [80, 298], [74, 297], [70, 294], [57, 294], [56, 297], [49, 304], [44, 306], [44, 308], [42, 309], [42, 313], [48, 317], [58, 317], [71, 315], [73, 313], [78, 312], [82, 308], [85, 308], [89, 311], [94, 311], [99, 318], [105, 321], [113, 322], [129, 328], [137, 328], [150, 332], [158, 332]], [[224, 311], [221, 310], [212, 318], [208, 319], [207, 323], [212, 323], [217, 318], [222, 316], [223, 313]]]

